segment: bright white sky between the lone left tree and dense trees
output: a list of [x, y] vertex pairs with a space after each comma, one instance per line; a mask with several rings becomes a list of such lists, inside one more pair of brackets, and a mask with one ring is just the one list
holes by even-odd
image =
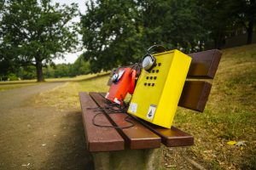
[[[52, 3], [60, 3], [60, 4], [71, 4], [71, 3], [78, 3], [79, 4], [79, 11], [84, 14], [85, 11], [85, 2], [84, 0], [52, 0]], [[79, 17], [76, 17], [73, 21], [79, 22]], [[74, 54], [64, 54], [65, 59], [54, 59], [55, 64], [61, 63], [73, 63], [76, 59], [78, 59], [79, 55], [82, 52], [77, 52]]]

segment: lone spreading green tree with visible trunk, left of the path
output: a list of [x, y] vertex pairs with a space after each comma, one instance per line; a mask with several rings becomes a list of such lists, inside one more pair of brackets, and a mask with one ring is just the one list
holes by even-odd
[[74, 3], [68, 7], [50, 0], [6, 1], [0, 20], [0, 62], [34, 65], [38, 82], [44, 81], [45, 65], [76, 50], [78, 26], [70, 24], [76, 15]]

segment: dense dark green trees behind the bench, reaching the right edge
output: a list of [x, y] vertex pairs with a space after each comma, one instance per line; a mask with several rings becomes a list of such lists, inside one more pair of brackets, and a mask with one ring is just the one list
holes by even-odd
[[[130, 65], [154, 44], [184, 53], [222, 48], [237, 23], [255, 23], [255, 0], [97, 0], [81, 16], [84, 59], [93, 72]], [[240, 24], [241, 25], [241, 24]], [[212, 48], [212, 47], [211, 47]]]

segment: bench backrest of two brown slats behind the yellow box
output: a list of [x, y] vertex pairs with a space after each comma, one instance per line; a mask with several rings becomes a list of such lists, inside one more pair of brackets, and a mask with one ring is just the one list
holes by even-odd
[[[212, 80], [215, 77], [222, 53], [218, 49], [212, 49], [188, 55], [192, 62], [178, 106], [202, 112], [212, 88], [212, 83], [206, 79]], [[109, 79], [108, 85], [111, 83]]]

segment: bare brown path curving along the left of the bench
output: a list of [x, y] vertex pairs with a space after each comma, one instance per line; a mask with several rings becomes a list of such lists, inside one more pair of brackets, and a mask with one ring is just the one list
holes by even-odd
[[80, 112], [29, 103], [35, 95], [61, 84], [0, 92], [0, 169], [93, 168], [84, 147]]

